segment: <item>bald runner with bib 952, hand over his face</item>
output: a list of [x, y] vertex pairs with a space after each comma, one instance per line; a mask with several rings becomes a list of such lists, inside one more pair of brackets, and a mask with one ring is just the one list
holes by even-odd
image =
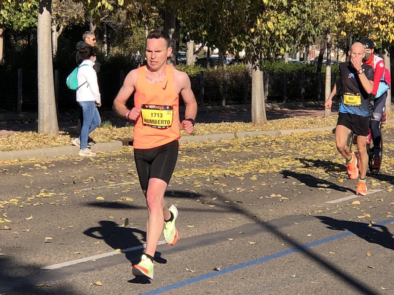
[[[368, 94], [372, 92], [374, 86], [374, 69], [372, 66], [362, 63], [365, 56], [364, 45], [359, 42], [351, 46], [349, 52], [350, 61], [339, 65], [340, 78], [336, 82], [330, 96], [325, 102], [327, 109], [331, 108], [332, 97], [336, 94], [336, 88], [342, 90], [342, 100], [338, 110], [338, 123], [335, 131], [336, 148], [349, 160], [348, 174], [350, 179], [360, 179], [356, 194], [366, 195], [366, 168], [368, 165], [368, 155], [366, 152], [367, 136], [369, 134], [370, 100]], [[357, 136], [357, 149], [359, 160], [355, 153], [351, 153], [346, 146], [346, 140], [350, 132]], [[359, 162], [359, 167], [357, 167]]]

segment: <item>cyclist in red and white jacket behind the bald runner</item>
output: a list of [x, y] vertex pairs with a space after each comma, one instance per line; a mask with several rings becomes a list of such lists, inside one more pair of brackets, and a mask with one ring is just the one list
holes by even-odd
[[[374, 88], [372, 89], [371, 94], [375, 97], [377, 89], [379, 87], [379, 83], [384, 81], [388, 85], [390, 85], [391, 77], [390, 72], [388, 72], [387, 68], [385, 68], [385, 61], [374, 55], [374, 48], [375, 44], [374, 41], [368, 38], [361, 39], [359, 41], [361, 44], [364, 45], [365, 49], [365, 57], [363, 59], [364, 63], [370, 65], [374, 68]], [[385, 107], [386, 107], [386, 98], [387, 92], [381, 95], [378, 98], [374, 98], [374, 118], [370, 120], [370, 128], [371, 128], [371, 135], [372, 141], [374, 142], [374, 150], [375, 150], [375, 160], [374, 165], [372, 166], [373, 169], [380, 168], [381, 159], [380, 159], [380, 142], [381, 142], [381, 132], [379, 129], [379, 123], [386, 122], [386, 114]]]

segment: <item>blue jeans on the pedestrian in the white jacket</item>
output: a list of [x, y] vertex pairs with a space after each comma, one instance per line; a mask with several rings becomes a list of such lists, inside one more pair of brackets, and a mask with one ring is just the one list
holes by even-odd
[[87, 138], [101, 124], [101, 118], [94, 101], [78, 101], [78, 104], [82, 108], [82, 116], [84, 117], [81, 135], [79, 136], [81, 141], [80, 149], [86, 149]]

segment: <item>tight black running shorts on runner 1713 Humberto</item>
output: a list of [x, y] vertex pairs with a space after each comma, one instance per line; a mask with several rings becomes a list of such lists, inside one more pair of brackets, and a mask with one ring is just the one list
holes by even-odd
[[139, 184], [142, 190], [148, 189], [151, 178], [170, 182], [178, 158], [178, 140], [151, 149], [134, 149]]

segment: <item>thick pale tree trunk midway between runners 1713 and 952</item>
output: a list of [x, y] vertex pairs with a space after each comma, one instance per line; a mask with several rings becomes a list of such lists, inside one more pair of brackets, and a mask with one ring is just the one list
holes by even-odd
[[252, 123], [267, 122], [264, 103], [263, 71], [260, 68], [260, 55], [255, 53], [252, 58]]

